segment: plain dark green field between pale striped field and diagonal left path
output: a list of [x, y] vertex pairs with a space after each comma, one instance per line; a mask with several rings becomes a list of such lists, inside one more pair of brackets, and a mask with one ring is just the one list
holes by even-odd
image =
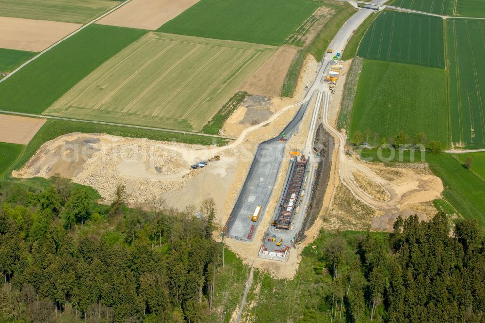
[[0, 84], [0, 110], [42, 113], [146, 31], [91, 25]]

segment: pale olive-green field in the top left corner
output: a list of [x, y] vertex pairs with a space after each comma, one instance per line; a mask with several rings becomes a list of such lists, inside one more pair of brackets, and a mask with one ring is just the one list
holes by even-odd
[[86, 23], [119, 3], [116, 0], [0, 0], [0, 16]]

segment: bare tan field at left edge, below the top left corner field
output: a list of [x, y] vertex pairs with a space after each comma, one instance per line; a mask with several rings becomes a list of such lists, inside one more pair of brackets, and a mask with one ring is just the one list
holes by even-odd
[[41, 51], [80, 27], [67, 22], [0, 17], [0, 47]]

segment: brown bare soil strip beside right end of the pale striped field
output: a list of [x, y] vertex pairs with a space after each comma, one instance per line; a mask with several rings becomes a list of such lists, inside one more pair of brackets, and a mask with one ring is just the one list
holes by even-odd
[[297, 52], [296, 47], [281, 46], [242, 84], [241, 90], [254, 95], [279, 97], [286, 74]]

